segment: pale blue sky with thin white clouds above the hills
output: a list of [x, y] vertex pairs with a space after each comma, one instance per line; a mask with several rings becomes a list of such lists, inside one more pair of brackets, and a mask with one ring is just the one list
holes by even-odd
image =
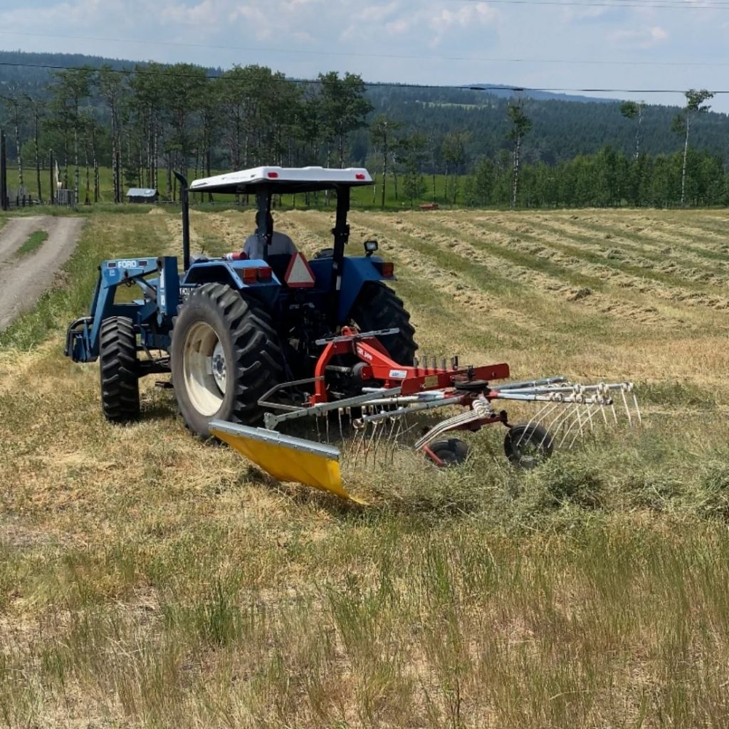
[[[5, 50], [260, 63], [296, 77], [729, 90], [728, 39], [729, 0], [0, 0]], [[729, 95], [712, 108], [729, 112]]]

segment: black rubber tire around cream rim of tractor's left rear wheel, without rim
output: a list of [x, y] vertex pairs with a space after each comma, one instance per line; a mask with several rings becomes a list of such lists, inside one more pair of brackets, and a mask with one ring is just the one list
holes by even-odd
[[[225, 394], [218, 393], [215, 412], [210, 408], [202, 412], [195, 406], [185, 374], [186, 340], [200, 322], [214, 331], [225, 356]], [[208, 438], [208, 424], [213, 418], [259, 425], [263, 412], [258, 400], [284, 381], [284, 355], [270, 313], [226, 284], [203, 284], [178, 308], [172, 327], [172, 382], [187, 428], [200, 438]]]

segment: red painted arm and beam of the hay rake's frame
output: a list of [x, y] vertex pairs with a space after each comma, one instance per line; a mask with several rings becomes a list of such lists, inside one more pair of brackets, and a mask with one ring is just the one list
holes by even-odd
[[[393, 336], [393, 335], [391, 335]], [[364, 367], [359, 370], [363, 381], [381, 383], [386, 389], [400, 388], [402, 395], [414, 395], [426, 390], [440, 390], [457, 387], [469, 381], [505, 380], [509, 377], [509, 365], [487, 364], [483, 367], [410, 367], [397, 364], [390, 359], [387, 350], [374, 336], [362, 335], [349, 327], [343, 327], [340, 337], [324, 346], [316, 363], [314, 394], [311, 405], [327, 402], [327, 386], [324, 373], [332, 357], [340, 354], [355, 354]]]

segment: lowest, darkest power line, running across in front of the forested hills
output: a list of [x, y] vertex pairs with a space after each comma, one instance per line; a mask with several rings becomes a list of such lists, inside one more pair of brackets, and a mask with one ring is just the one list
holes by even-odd
[[[30, 68], [30, 69], [50, 69], [53, 71], [82, 71], [85, 70], [82, 66], [55, 66], [50, 63], [15, 63], [12, 61], [0, 61], [0, 66], [10, 66], [12, 68]], [[90, 67], [86, 67], [88, 69]], [[98, 69], [92, 68], [92, 71]], [[169, 76], [169, 77], [182, 77], [182, 78], [197, 78], [196, 74], [179, 74], [176, 71], [165, 70], [157, 71], [155, 69], [108, 69], [116, 74], [141, 74], [149, 76]], [[208, 79], [219, 79], [221, 81], [235, 80], [231, 77], [221, 76], [219, 74], [205, 74], [205, 78]], [[284, 83], [295, 83], [302, 85], [319, 85], [321, 81], [319, 79], [270, 79], [271, 81], [281, 80]], [[394, 81], [363, 81], [362, 85], [370, 88], [385, 87], [385, 88], [403, 88], [403, 89], [443, 89], [443, 90], [456, 90], [456, 91], [512, 91], [514, 93], [519, 92], [544, 92], [544, 93], [634, 93], [634, 94], [655, 94], [655, 93], [685, 93], [686, 89], [635, 89], [635, 88], [566, 88], [566, 87], [534, 87], [534, 86], [519, 86], [519, 85], [455, 85], [455, 84], [416, 84], [416, 83], [399, 83]], [[729, 94], [729, 90], [712, 90], [712, 94]]]

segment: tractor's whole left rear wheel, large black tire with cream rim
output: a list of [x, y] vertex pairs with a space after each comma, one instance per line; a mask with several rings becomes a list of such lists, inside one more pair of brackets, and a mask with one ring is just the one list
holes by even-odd
[[270, 314], [226, 284], [203, 284], [173, 320], [170, 367], [185, 425], [209, 437], [212, 418], [262, 420], [258, 400], [283, 381], [284, 356]]

